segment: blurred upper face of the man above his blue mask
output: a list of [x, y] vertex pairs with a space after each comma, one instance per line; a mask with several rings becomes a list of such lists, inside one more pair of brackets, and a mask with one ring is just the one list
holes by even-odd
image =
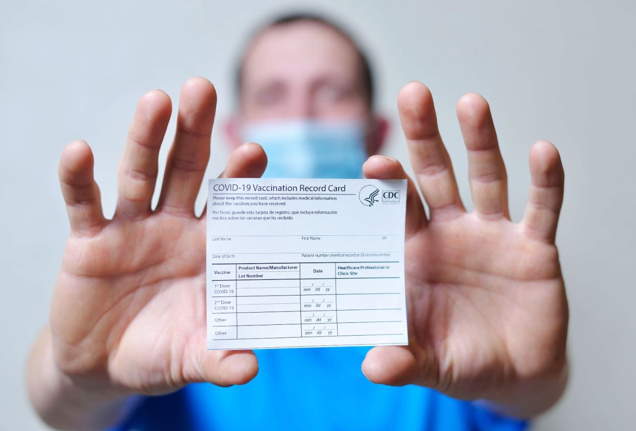
[[347, 38], [301, 21], [261, 33], [243, 65], [241, 121], [365, 120], [361, 63]]

